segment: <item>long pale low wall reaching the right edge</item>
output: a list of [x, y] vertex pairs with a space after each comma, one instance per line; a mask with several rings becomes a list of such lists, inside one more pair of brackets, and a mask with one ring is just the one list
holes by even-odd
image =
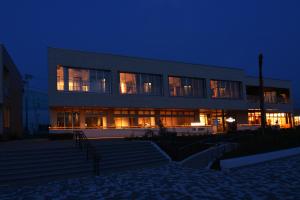
[[266, 161], [294, 156], [294, 155], [300, 155], [300, 147], [221, 160], [220, 166], [221, 169], [231, 169], [231, 168], [253, 165], [261, 162], [266, 162]]

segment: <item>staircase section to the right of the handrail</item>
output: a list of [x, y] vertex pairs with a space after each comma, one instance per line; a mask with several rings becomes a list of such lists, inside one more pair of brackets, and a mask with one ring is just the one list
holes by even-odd
[[124, 170], [138, 170], [169, 162], [149, 141], [92, 141], [100, 160], [100, 175]]

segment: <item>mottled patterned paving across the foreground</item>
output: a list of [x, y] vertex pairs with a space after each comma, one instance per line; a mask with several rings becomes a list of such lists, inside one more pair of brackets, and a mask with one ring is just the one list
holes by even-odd
[[232, 171], [178, 164], [1, 190], [0, 199], [298, 199], [300, 156]]

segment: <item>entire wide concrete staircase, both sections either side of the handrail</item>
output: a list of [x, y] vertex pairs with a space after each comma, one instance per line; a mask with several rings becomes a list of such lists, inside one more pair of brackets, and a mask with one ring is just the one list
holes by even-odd
[[[100, 156], [100, 175], [169, 162], [149, 141], [89, 140]], [[0, 189], [94, 175], [93, 160], [74, 141], [37, 141], [0, 146]]]

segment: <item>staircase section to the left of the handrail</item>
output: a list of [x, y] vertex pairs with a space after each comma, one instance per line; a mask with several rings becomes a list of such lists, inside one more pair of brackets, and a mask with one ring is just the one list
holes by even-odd
[[92, 161], [74, 146], [1, 149], [0, 186], [92, 176]]

